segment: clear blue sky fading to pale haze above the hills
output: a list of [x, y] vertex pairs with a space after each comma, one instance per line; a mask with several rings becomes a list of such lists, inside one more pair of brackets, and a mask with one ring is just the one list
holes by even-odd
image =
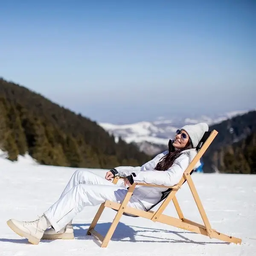
[[256, 1], [2, 1], [0, 76], [98, 122], [256, 108]]

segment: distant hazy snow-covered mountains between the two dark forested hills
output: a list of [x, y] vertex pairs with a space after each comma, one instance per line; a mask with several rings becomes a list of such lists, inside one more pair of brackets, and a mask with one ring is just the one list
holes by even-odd
[[145, 153], [155, 154], [168, 144], [169, 139], [174, 137], [177, 128], [183, 125], [196, 124], [198, 122], [206, 122], [208, 125], [212, 125], [247, 112], [233, 111], [215, 116], [189, 116], [183, 119], [179, 117], [173, 117], [172, 119], [159, 117], [153, 122], [142, 121], [131, 124], [102, 122], [99, 125], [110, 134], [113, 134], [116, 140], [118, 140], [118, 137], [122, 137], [127, 143], [136, 143], [140, 150]]

